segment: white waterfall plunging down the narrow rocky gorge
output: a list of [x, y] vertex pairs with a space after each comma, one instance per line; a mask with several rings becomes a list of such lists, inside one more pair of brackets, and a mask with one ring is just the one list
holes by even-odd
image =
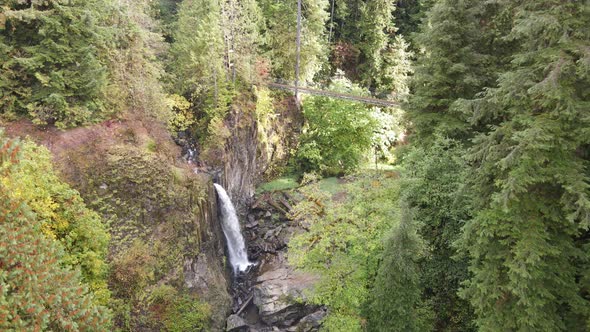
[[221, 207], [221, 228], [227, 240], [227, 249], [229, 252], [229, 262], [231, 263], [234, 273], [238, 271], [245, 271], [248, 266], [252, 265], [248, 261], [248, 253], [246, 252], [246, 245], [244, 244], [244, 237], [240, 231], [240, 223], [236, 209], [232, 204], [225, 189], [217, 183], [213, 184]]

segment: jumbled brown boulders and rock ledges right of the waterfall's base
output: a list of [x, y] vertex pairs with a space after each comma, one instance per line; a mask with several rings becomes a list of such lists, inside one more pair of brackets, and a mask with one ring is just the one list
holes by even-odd
[[228, 331], [316, 331], [325, 308], [308, 302], [317, 276], [295, 271], [286, 260], [290, 238], [304, 231], [286, 213], [294, 204], [286, 193], [256, 197], [243, 225], [251, 260], [258, 264], [234, 282]]

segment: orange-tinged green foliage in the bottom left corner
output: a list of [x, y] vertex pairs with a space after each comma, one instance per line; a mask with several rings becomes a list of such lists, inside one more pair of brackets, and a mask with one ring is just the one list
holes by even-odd
[[[1, 139], [0, 170], [10, 177], [18, 143]], [[0, 329], [107, 331], [109, 312], [62, 266], [59, 245], [42, 234], [27, 204], [0, 186]]]

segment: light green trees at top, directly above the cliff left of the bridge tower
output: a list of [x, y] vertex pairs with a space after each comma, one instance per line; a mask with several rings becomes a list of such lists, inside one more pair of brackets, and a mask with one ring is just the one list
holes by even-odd
[[[185, 0], [178, 7], [171, 89], [191, 103], [190, 129], [208, 147], [224, 139], [223, 121], [240, 84], [257, 78], [259, 15], [252, 0]], [[190, 118], [182, 109], [178, 113]]]

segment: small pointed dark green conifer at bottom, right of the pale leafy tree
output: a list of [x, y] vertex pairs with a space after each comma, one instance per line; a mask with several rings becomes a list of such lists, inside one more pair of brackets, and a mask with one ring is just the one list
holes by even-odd
[[429, 331], [432, 313], [422, 300], [420, 264], [425, 245], [408, 207], [385, 240], [373, 288], [368, 331]]

